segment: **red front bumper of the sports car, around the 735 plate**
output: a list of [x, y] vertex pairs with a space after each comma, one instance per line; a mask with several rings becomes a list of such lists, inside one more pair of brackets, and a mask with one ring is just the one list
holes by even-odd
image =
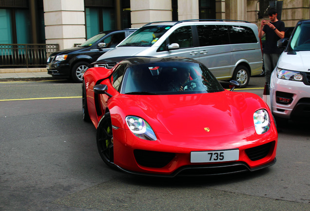
[[[161, 140], [156, 141], [137, 140], [131, 131], [118, 130], [121, 131], [113, 131], [114, 164], [118, 169], [133, 174], [162, 177], [219, 175], [263, 169], [276, 162], [277, 132], [273, 123], [267, 134], [252, 134], [251, 129], [248, 129], [246, 133], [242, 133], [243, 135], [240, 133], [234, 137], [220, 137], [219, 139], [223, 140], [228, 138], [236, 140], [241, 136], [244, 137], [243, 140], [232, 141], [234, 144], [228, 143], [222, 147], [216, 147], [216, 145], [210, 147], [211, 140], [205, 141], [205, 147], [202, 147], [201, 144], [194, 146], [191, 143], [188, 146], [185, 146], [184, 143], [178, 145], [177, 140], [165, 144], [165, 141], [162, 140], [173, 138], [169, 134], [160, 134]], [[214, 138], [218, 139], [218, 137]], [[213, 142], [216, 143], [214, 140]], [[232, 148], [239, 149], [239, 159], [236, 161], [191, 163], [191, 151]], [[142, 152], [137, 153], [137, 151]], [[257, 156], [259, 153], [261, 154]]]

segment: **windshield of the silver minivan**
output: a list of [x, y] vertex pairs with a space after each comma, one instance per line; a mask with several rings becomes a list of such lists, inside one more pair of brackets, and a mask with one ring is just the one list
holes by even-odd
[[119, 46], [152, 46], [171, 26], [144, 26], [129, 36]]

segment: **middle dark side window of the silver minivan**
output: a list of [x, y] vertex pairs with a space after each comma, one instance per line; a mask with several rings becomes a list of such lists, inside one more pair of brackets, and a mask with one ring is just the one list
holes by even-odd
[[200, 46], [229, 44], [225, 25], [197, 25]]

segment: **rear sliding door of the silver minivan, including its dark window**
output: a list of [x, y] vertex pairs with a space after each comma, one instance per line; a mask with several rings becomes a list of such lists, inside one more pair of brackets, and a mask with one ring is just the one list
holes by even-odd
[[205, 64], [217, 79], [231, 76], [231, 48], [226, 25], [196, 25], [199, 40], [199, 62]]

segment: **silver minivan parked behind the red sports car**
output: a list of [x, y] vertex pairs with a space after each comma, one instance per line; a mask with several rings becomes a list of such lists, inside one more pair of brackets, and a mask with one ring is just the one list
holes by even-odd
[[[258, 29], [246, 21], [161, 21], [139, 28], [116, 48], [100, 56], [106, 67], [128, 56], [180, 56], [204, 63], [218, 80], [237, 80], [247, 86], [262, 73]], [[112, 59], [116, 58], [116, 59]]]

